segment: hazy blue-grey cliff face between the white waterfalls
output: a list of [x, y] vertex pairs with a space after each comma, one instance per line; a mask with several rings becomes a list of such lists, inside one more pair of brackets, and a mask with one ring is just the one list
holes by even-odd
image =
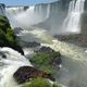
[[51, 33], [57, 33], [57, 29], [62, 32], [61, 27], [67, 14], [69, 3], [70, 0], [60, 0], [52, 3], [37, 4], [35, 7], [35, 12], [42, 15], [42, 17], [49, 17], [36, 26], [50, 29]]

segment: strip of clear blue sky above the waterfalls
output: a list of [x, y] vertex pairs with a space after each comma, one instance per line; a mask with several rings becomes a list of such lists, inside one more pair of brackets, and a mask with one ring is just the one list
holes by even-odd
[[0, 0], [0, 3], [7, 5], [34, 5], [37, 3], [48, 3], [57, 0]]

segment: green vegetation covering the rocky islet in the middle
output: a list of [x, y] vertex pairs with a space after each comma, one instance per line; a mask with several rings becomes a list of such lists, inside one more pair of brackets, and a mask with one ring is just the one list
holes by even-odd
[[53, 60], [54, 59], [59, 60], [59, 52], [39, 52], [37, 53], [34, 58], [32, 58], [29, 61], [34, 64], [39, 70], [42, 70], [47, 73], [53, 74]]

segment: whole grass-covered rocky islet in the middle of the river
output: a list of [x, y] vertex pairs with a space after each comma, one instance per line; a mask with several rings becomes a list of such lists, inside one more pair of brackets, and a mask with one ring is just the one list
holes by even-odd
[[54, 70], [60, 69], [62, 59], [59, 51], [54, 51], [50, 47], [41, 47], [35, 50], [35, 52], [36, 54], [29, 59], [35, 67], [51, 74], [54, 73]]

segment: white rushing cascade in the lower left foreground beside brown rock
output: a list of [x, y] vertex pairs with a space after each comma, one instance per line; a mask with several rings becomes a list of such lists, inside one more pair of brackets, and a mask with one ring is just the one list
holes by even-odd
[[13, 79], [14, 72], [20, 66], [33, 65], [25, 57], [11, 48], [0, 48], [0, 52], [7, 55], [4, 59], [0, 54], [0, 87], [16, 87], [17, 84]]

